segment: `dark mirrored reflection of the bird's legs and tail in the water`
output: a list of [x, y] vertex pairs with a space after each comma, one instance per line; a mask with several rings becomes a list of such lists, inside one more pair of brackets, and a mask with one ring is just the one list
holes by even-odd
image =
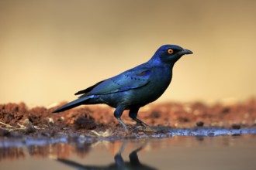
[[[146, 145], [146, 144], [145, 144]], [[126, 141], [123, 142], [123, 145], [119, 149], [119, 151], [115, 155], [115, 163], [106, 165], [106, 166], [99, 166], [99, 165], [81, 165], [77, 162], [73, 162], [63, 158], [57, 158], [58, 162], [62, 162], [65, 165], [71, 166], [77, 169], [156, 169], [152, 168], [148, 165], [144, 165], [140, 163], [138, 158], [137, 152], [144, 148], [145, 145], [142, 145], [140, 148], [135, 149], [129, 155], [130, 162], [124, 162], [122, 158], [122, 152], [126, 146]]]

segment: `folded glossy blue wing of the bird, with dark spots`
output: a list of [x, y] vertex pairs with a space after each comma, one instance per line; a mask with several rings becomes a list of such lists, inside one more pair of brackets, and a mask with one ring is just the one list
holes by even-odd
[[113, 76], [110, 79], [102, 80], [99, 83], [95, 83], [92, 87], [88, 87], [85, 90], [78, 91], [77, 94], [83, 94], [81, 97], [88, 95], [117, 93], [126, 90], [137, 89], [144, 87], [149, 83], [151, 71], [149, 69], [133, 69], [120, 73], [117, 76]]

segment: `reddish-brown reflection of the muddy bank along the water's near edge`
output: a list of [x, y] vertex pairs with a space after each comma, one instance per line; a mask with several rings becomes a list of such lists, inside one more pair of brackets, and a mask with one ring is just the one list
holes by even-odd
[[[145, 139], [137, 140], [126, 140], [121, 146], [121, 141], [79, 141], [71, 140], [66, 143], [53, 143], [48, 145], [17, 145], [14, 147], [0, 147], [0, 161], [5, 159], [15, 160], [19, 158], [26, 158], [30, 156], [32, 158], [59, 158], [60, 160], [66, 160], [70, 156], [77, 156], [78, 158], [85, 158], [89, 152], [93, 151], [108, 151], [112, 155], [116, 154], [116, 158], [122, 158], [121, 153], [125, 148], [128, 151], [133, 151], [134, 148], [137, 148], [131, 155], [136, 155], [137, 151], [147, 148], [147, 151], [157, 151], [161, 148], [171, 148], [178, 147], [182, 145], [184, 148], [189, 147], [202, 147], [206, 145], [211, 145], [213, 147], [227, 147], [234, 145], [234, 139], [236, 138], [236, 145], [244, 145], [244, 139], [253, 138], [254, 135], [242, 135], [229, 136], [229, 137], [214, 137], [206, 138], [204, 136], [198, 135], [192, 138], [188, 137], [178, 137], [173, 138], [150, 138], [147, 140], [147, 145]], [[240, 140], [238, 140], [240, 139]], [[0, 143], [2, 141], [0, 140]], [[33, 142], [31, 142], [33, 143]], [[128, 145], [128, 146], [126, 146]], [[134, 146], [136, 145], [136, 146]], [[138, 148], [140, 146], [140, 148]], [[116, 151], [118, 148], [119, 151]], [[117, 153], [116, 153], [117, 152]], [[131, 157], [136, 158], [136, 157]], [[122, 160], [122, 159], [119, 159]], [[130, 161], [134, 163], [136, 159], [131, 159]], [[138, 159], [137, 159], [138, 160]], [[118, 161], [118, 160], [116, 160]]]

